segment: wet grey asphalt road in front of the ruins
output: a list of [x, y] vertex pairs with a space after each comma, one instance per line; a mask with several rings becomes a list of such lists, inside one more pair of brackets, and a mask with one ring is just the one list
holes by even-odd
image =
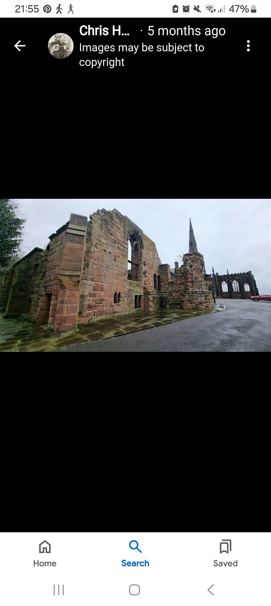
[[62, 351], [271, 351], [271, 302], [217, 302], [226, 310]]

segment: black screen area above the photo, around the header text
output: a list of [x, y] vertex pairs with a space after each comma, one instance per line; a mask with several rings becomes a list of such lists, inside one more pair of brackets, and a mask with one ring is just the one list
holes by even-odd
[[[81, 36], [83, 24], [108, 27], [109, 35]], [[268, 24], [245, 16], [2, 19], [9, 196], [266, 196]], [[112, 36], [112, 25], [130, 35]], [[158, 27], [188, 25], [202, 35], [157, 35]], [[205, 36], [206, 27], [224, 27], [226, 35]], [[74, 41], [62, 60], [48, 52], [59, 31]], [[121, 55], [124, 67], [91, 69], [80, 59], [120, 55], [79, 53], [80, 42], [139, 50]], [[205, 51], [141, 53], [142, 42], [197, 43]]]

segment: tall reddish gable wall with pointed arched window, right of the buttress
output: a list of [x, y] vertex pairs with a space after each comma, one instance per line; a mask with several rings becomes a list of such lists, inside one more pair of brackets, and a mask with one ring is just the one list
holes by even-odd
[[[128, 236], [132, 231], [142, 241], [141, 281], [127, 279]], [[135, 297], [138, 307], [151, 310], [153, 275], [158, 275], [160, 263], [155, 243], [128, 217], [116, 208], [97, 210], [88, 222], [78, 323], [133, 311]]]

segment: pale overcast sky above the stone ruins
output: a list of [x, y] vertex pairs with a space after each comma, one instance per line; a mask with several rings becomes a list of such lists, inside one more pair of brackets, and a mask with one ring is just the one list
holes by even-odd
[[117, 208], [156, 244], [162, 263], [174, 267], [188, 253], [189, 219], [197, 248], [218, 274], [251, 270], [259, 293], [270, 293], [270, 200], [240, 199], [21, 199], [27, 216], [23, 251], [48, 244], [48, 236], [69, 220], [71, 213], [89, 215], [97, 208]]

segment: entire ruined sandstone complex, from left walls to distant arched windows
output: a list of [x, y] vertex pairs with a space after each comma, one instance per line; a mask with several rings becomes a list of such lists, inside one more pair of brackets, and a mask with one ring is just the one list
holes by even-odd
[[258, 295], [252, 272], [206, 275], [190, 221], [183, 263], [162, 264], [155, 242], [114, 208], [69, 221], [0, 278], [4, 316], [48, 325], [57, 336], [104, 316], [158, 308], [211, 310], [214, 298]]

